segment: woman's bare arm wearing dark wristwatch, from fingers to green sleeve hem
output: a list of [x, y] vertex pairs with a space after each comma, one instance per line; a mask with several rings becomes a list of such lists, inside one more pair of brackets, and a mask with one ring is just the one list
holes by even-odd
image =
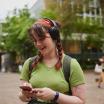
[[35, 88], [34, 97], [42, 100], [52, 100], [58, 104], [85, 104], [85, 90], [83, 86], [72, 88], [72, 95], [58, 93], [50, 88]]

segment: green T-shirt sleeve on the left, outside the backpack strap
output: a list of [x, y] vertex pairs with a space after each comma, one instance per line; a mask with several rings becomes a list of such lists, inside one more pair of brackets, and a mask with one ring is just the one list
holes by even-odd
[[30, 58], [27, 59], [23, 64], [22, 71], [20, 74], [21, 80], [29, 81], [29, 62], [30, 62]]

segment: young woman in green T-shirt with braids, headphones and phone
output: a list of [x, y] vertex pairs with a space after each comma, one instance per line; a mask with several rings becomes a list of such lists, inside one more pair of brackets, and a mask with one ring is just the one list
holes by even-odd
[[66, 94], [69, 84], [62, 71], [65, 54], [60, 42], [59, 27], [57, 22], [43, 18], [29, 29], [29, 35], [39, 53], [32, 63], [31, 75], [31, 58], [26, 60], [21, 73], [21, 86], [28, 86], [31, 90], [22, 89], [19, 98], [28, 104], [85, 104], [84, 74], [74, 58], [71, 58], [69, 77], [72, 94]]

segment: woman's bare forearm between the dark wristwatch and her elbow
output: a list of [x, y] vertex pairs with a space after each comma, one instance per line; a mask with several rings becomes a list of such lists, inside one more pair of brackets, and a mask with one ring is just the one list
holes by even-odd
[[77, 96], [69, 96], [62, 93], [59, 94], [57, 102], [59, 104], [85, 104], [85, 101]]

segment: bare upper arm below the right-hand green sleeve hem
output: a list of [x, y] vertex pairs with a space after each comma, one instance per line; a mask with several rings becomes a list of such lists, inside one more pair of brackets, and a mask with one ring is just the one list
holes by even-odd
[[85, 103], [86, 98], [85, 92], [86, 92], [85, 84], [78, 85], [72, 88], [72, 95], [80, 98], [83, 103]]

